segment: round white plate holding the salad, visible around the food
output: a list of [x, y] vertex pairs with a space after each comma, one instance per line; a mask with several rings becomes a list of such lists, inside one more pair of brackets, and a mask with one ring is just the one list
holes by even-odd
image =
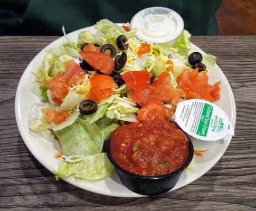
[[[93, 27], [87, 27], [68, 34], [68, 37], [71, 40], [76, 41], [79, 32], [84, 30], [90, 30], [93, 33], [95, 32]], [[52, 143], [41, 137], [39, 134], [30, 132], [27, 123], [27, 114], [29, 113], [32, 104], [40, 102], [39, 98], [30, 91], [31, 83], [35, 80], [32, 72], [35, 72], [37, 68], [39, 68], [47, 50], [63, 42], [65, 42], [65, 38], [60, 37], [58, 40], [46, 46], [34, 57], [22, 75], [15, 98], [15, 115], [18, 130], [20, 130], [21, 136], [32, 155], [51, 172], [58, 168], [58, 161], [60, 159], [55, 159], [54, 155], [61, 151], [60, 145], [58, 141]], [[193, 44], [191, 51], [198, 51], [204, 54], [202, 50]], [[226, 112], [234, 127], [236, 115], [234, 96], [230, 88], [230, 84], [219, 66], [215, 65], [209, 72], [209, 81], [210, 84], [221, 81], [221, 99], [217, 101], [216, 104]], [[195, 156], [195, 171], [183, 173], [177, 185], [171, 191], [192, 183], [192, 181], [198, 179], [210, 170], [222, 157], [227, 146], [229, 146], [230, 141], [231, 136], [227, 135], [224, 139], [218, 141], [211, 149], [205, 151], [203, 157]], [[68, 178], [64, 180], [74, 186], [97, 194], [117, 197], [143, 197], [139, 194], [133, 193], [122, 185], [116, 173], [109, 178], [94, 183], [75, 178]]]

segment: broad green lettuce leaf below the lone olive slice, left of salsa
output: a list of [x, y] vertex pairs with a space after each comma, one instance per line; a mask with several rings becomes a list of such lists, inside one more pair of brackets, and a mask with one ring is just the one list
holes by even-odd
[[55, 135], [65, 156], [89, 156], [102, 150], [103, 132], [95, 123], [89, 124], [83, 118], [78, 118], [71, 126], [57, 131]]

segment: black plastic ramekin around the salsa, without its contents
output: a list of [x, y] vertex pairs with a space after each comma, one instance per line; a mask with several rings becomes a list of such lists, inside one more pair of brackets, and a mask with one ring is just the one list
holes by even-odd
[[163, 176], [148, 177], [133, 174], [117, 165], [110, 153], [110, 139], [106, 142], [106, 152], [111, 164], [116, 168], [116, 172], [122, 182], [128, 189], [137, 194], [146, 196], [155, 196], [164, 194], [172, 189], [178, 182], [179, 177], [194, 156], [194, 147], [192, 141], [188, 138], [189, 154], [185, 164], [178, 170]]

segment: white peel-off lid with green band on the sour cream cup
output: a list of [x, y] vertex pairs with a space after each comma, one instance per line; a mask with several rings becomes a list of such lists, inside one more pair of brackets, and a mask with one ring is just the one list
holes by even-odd
[[174, 121], [188, 135], [207, 141], [219, 140], [234, 129], [226, 113], [217, 105], [205, 100], [186, 100], [178, 103]]

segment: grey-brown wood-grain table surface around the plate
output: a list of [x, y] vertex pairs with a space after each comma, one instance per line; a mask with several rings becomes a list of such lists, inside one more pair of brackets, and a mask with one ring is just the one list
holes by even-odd
[[256, 36], [192, 37], [194, 44], [218, 57], [230, 82], [236, 102], [235, 136], [204, 176], [148, 198], [102, 196], [56, 181], [26, 148], [16, 126], [16, 88], [33, 57], [57, 38], [0, 37], [1, 210], [255, 210]]

